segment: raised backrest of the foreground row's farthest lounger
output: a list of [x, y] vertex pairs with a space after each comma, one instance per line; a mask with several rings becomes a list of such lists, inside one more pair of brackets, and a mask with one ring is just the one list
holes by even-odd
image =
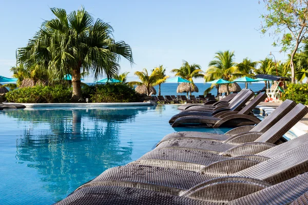
[[251, 132], [264, 132], [268, 130], [273, 125], [275, 125], [279, 119], [290, 112], [295, 106], [296, 103], [294, 101], [290, 99], [284, 100], [283, 103], [278, 106], [271, 114], [269, 114], [262, 121], [260, 121], [258, 125], [251, 129]]

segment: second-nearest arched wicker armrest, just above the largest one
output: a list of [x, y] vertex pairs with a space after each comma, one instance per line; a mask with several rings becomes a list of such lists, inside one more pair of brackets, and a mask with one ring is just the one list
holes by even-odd
[[230, 158], [211, 163], [202, 168], [199, 173], [225, 176], [255, 166], [258, 163], [260, 161], [245, 158]]

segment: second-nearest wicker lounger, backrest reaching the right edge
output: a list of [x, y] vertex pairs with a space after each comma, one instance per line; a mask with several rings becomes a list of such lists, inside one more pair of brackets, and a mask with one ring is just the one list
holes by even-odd
[[[271, 185], [277, 183], [280, 183], [277, 186], [283, 187], [284, 190], [292, 190], [292, 188], [294, 189], [300, 186], [298, 183], [299, 180], [294, 181], [297, 183], [292, 183], [292, 178], [302, 179], [301, 176], [304, 175], [298, 176], [298, 174], [308, 171], [308, 153], [306, 149], [308, 149], [307, 144], [258, 163], [253, 167], [219, 178], [217, 178], [216, 172], [205, 172], [209, 171], [206, 168], [200, 170], [200, 173], [203, 174], [200, 175], [199, 173], [188, 171], [147, 166], [117, 167], [105, 171], [97, 178], [81, 186], [72, 195], [77, 195], [77, 193], [80, 194], [82, 190], [89, 190], [90, 188], [94, 189], [95, 187], [110, 186], [126, 187], [127, 193], [131, 193], [128, 191], [131, 188], [138, 188], [140, 190], [145, 189], [170, 195], [178, 195], [185, 198], [210, 200], [212, 202], [226, 202], [235, 200], [239, 197], [246, 197], [246, 200], [253, 200], [257, 191], [264, 190], [263, 193], [265, 193], [266, 189], [271, 188]], [[235, 164], [233, 166], [237, 165]], [[191, 186], [192, 183], [195, 183], [195, 185]], [[305, 183], [305, 186], [296, 188], [297, 193], [296, 191], [294, 192], [296, 195], [294, 195], [294, 193], [290, 194], [290, 196], [292, 196], [290, 200], [307, 191], [306, 186], [308, 180], [306, 175], [303, 183]], [[292, 186], [287, 189], [286, 186], [288, 185]], [[273, 188], [277, 189], [277, 186]], [[190, 189], [187, 189], [187, 187], [190, 187]], [[271, 194], [271, 190], [273, 189], [266, 191], [267, 199], [269, 198], [268, 195]], [[222, 191], [224, 196], [221, 194]], [[96, 194], [99, 194], [99, 192]], [[253, 195], [249, 196], [249, 194]], [[275, 192], [274, 194], [273, 197], [275, 198], [278, 193]], [[82, 195], [84, 196], [87, 194]], [[89, 196], [92, 195], [90, 194]], [[260, 194], [260, 196], [262, 196], [262, 194]], [[139, 195], [136, 195], [136, 197], [139, 197]], [[245, 199], [239, 198], [238, 200], [241, 201]]]

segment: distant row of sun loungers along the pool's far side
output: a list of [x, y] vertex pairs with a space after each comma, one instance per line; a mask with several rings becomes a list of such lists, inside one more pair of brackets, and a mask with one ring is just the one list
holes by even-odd
[[199, 104], [199, 103], [207, 103], [208, 101], [211, 101], [211, 103], [217, 102], [214, 95], [209, 95], [209, 97], [204, 97], [204, 95], [199, 95], [199, 98], [196, 98], [195, 95], [189, 95], [188, 99], [186, 95], [178, 95], [177, 97], [175, 95], [159, 95], [159, 96], [153, 96], [154, 101], [159, 101], [161, 104], [170, 104], [173, 102], [174, 104], [179, 104], [181, 102], [188, 103], [188, 104]]

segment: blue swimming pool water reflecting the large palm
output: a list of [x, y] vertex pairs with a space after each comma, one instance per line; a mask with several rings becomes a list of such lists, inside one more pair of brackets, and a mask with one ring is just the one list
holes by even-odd
[[177, 105], [0, 111], [1, 204], [51, 204], [174, 131]]

